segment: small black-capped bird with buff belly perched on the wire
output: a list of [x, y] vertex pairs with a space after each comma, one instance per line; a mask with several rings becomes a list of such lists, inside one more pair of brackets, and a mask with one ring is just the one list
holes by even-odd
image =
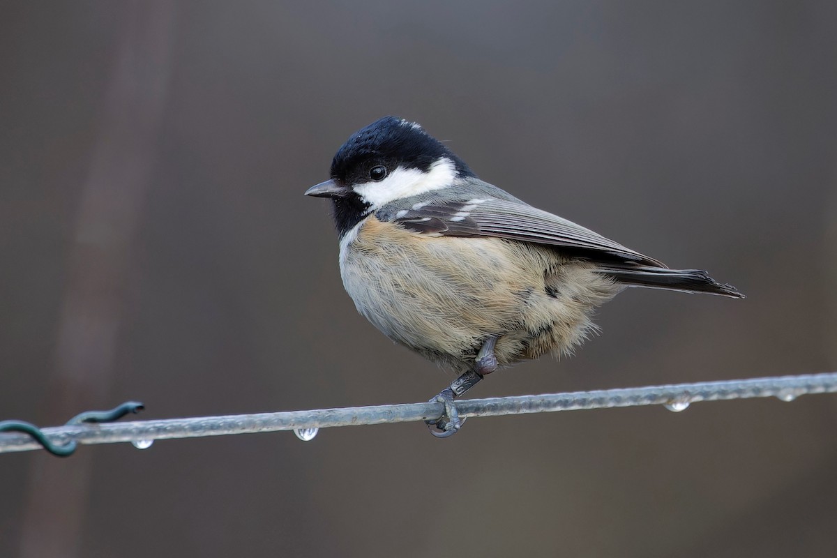
[[340, 273], [357, 310], [390, 339], [462, 372], [430, 401], [446, 438], [454, 398], [499, 366], [573, 350], [593, 310], [625, 287], [743, 294], [705, 271], [668, 269], [476, 177], [447, 146], [386, 116], [355, 132], [331, 179]]

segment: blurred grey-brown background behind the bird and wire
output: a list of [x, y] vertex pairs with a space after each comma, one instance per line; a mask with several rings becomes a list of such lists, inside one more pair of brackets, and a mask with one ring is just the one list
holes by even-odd
[[[357, 128], [743, 301], [631, 289], [472, 397], [837, 368], [837, 4], [0, 4], [0, 419], [424, 401], [322, 200]], [[833, 556], [837, 398], [0, 456], [0, 555]]]

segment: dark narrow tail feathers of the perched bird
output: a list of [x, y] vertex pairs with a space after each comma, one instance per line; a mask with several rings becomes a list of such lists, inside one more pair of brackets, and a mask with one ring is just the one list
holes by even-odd
[[743, 299], [731, 284], [721, 284], [700, 269], [665, 269], [632, 264], [599, 264], [599, 273], [606, 274], [617, 283], [631, 287], [681, 290], [686, 293], [707, 293]]

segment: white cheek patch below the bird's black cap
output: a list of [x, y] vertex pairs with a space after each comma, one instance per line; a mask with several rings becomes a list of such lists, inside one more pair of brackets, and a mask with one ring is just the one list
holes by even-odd
[[418, 196], [449, 187], [456, 178], [454, 161], [442, 157], [427, 172], [398, 166], [381, 182], [366, 182], [353, 187], [354, 191], [375, 211], [389, 202], [404, 197]]

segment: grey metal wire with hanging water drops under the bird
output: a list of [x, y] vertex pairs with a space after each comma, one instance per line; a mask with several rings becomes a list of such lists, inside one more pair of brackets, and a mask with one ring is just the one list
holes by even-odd
[[[749, 397], [778, 397], [782, 401], [792, 401], [801, 395], [834, 392], [837, 392], [837, 372], [827, 372], [803, 376], [707, 381], [596, 392], [465, 399], [457, 402], [456, 406], [460, 417], [496, 417], [531, 412], [576, 411], [640, 405], [665, 405], [672, 411], [680, 411], [691, 403], [701, 401]], [[82, 444], [131, 442], [136, 447], [142, 448], [151, 445], [152, 440], [167, 438], [199, 438], [277, 430], [304, 431], [311, 428], [360, 426], [384, 422], [426, 421], [439, 418], [442, 412], [443, 406], [437, 402], [405, 403], [377, 407], [66, 425], [44, 428], [43, 433], [55, 444], [73, 441]], [[25, 434], [0, 434], [0, 453], [39, 448], [41, 448], [39, 443]]]

